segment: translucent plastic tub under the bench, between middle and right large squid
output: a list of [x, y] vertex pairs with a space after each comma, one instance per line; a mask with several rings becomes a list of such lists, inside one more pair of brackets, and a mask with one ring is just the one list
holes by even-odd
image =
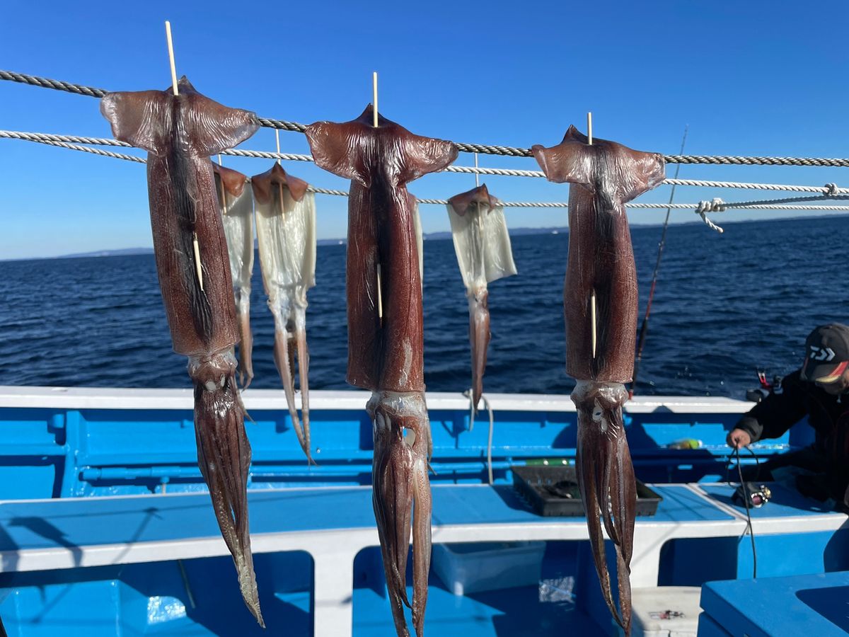
[[454, 595], [539, 583], [545, 542], [434, 544], [433, 569]]

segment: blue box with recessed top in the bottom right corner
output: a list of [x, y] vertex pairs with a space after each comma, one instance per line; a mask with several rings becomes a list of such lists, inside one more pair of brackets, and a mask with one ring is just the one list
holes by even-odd
[[[847, 600], [849, 572], [710, 582], [701, 591], [702, 617], [709, 616], [726, 634], [749, 637], [845, 635]], [[703, 629], [700, 622], [699, 637], [716, 634], [722, 633], [713, 626]]]

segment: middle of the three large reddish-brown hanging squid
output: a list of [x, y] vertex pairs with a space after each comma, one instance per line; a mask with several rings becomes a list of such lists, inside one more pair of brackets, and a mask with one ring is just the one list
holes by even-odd
[[406, 184], [457, 157], [446, 141], [413, 135], [369, 105], [344, 124], [306, 128], [316, 164], [351, 179], [346, 293], [347, 381], [372, 392], [374, 517], [396, 632], [408, 635], [407, 555], [413, 531], [413, 626], [424, 630], [430, 571], [430, 422], [424, 404], [419, 247]]

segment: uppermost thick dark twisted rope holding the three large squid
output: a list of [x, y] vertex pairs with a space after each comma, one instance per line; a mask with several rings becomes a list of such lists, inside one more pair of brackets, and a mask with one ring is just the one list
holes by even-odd
[[[21, 82], [32, 86], [53, 88], [68, 93], [88, 95], [93, 98], [102, 98], [109, 91], [103, 88], [83, 86], [51, 80], [47, 77], [25, 75], [15, 73], [11, 70], [0, 70], [0, 80], [10, 82]], [[273, 120], [267, 117], [258, 118], [261, 126], [277, 128], [284, 131], [304, 132], [305, 124], [295, 121]], [[530, 157], [531, 149], [516, 148], [514, 146], [492, 146], [486, 144], [464, 144], [453, 142], [457, 149], [466, 153], [481, 153], [483, 155], [508, 155], [512, 157]], [[664, 155], [667, 164], [728, 164], [728, 165], [758, 165], [758, 166], [849, 166], [849, 159], [827, 158], [827, 157], [742, 157], [736, 155]]]

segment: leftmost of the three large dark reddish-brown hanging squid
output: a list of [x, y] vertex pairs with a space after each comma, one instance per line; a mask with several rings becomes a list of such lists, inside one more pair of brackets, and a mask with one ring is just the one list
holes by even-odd
[[194, 381], [198, 464], [239, 588], [261, 625], [248, 534], [250, 444], [236, 385], [239, 341], [227, 242], [209, 156], [249, 138], [259, 122], [213, 102], [183, 77], [166, 91], [108, 93], [100, 110], [115, 138], [148, 151], [148, 194], [156, 270], [174, 351]]

